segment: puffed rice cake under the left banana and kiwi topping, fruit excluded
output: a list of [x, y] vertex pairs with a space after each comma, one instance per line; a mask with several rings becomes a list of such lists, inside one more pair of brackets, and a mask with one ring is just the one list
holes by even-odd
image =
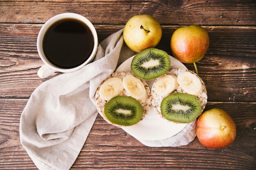
[[[97, 88], [97, 91], [96, 91], [96, 94], [95, 94], [95, 100], [96, 100], [96, 107], [97, 107], [97, 110], [99, 112], [99, 114], [103, 117], [104, 120], [106, 120], [108, 123], [114, 125], [114, 126], [124, 126], [124, 125], [119, 125], [119, 124], [115, 124], [113, 122], [110, 122], [110, 120], [108, 120], [108, 118], [105, 116], [105, 113], [104, 113], [104, 108], [106, 106], [106, 104], [108, 103], [109, 100], [103, 100], [100, 95], [99, 95], [99, 89], [101, 87], [101, 85], [103, 85], [103, 83], [108, 80], [109, 78], [112, 78], [112, 77], [121, 77], [122, 80], [123, 78], [126, 76], [126, 75], [132, 75], [132, 76], [135, 76], [132, 72], [113, 72], [110, 76], [108, 76], [103, 82], [101, 82], [101, 84], [99, 85], [99, 87]], [[136, 77], [136, 76], [135, 76]], [[139, 79], [139, 78], [138, 78]], [[148, 113], [150, 107], [151, 107], [151, 94], [150, 94], [150, 89], [148, 87], [148, 84], [146, 83], [146, 81], [144, 80], [141, 80], [139, 79], [145, 89], [146, 89], [146, 100], [142, 100], [142, 101], [138, 101], [141, 106], [142, 106], [142, 109], [143, 109], [143, 115], [142, 115], [142, 118], [141, 120], [146, 116], [146, 114]], [[124, 89], [118, 96], [130, 96], [128, 94], [128, 92], [126, 92], [126, 90]], [[140, 120], [140, 121], [141, 121]], [[140, 122], [139, 121], [139, 122]], [[138, 123], [138, 122], [137, 122]]]

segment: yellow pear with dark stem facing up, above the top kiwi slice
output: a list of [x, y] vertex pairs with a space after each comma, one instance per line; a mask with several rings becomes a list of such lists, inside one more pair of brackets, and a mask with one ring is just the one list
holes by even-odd
[[162, 29], [150, 15], [135, 15], [124, 27], [124, 41], [135, 52], [155, 47], [162, 37]]

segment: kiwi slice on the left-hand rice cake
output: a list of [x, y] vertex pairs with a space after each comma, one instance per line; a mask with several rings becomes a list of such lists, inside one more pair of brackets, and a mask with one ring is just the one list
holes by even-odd
[[104, 113], [110, 122], [130, 126], [141, 120], [143, 109], [134, 98], [116, 96], [108, 101]]

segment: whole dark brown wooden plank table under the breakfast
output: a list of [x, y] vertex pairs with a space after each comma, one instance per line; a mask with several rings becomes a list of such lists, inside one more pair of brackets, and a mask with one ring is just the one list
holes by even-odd
[[43, 61], [36, 39], [50, 17], [65, 12], [87, 17], [99, 42], [132, 16], [153, 15], [163, 31], [157, 48], [170, 55], [175, 29], [206, 28], [209, 50], [197, 63], [208, 92], [205, 110], [224, 109], [237, 127], [234, 143], [222, 149], [205, 148], [197, 137], [187, 146], [150, 148], [98, 116], [71, 169], [256, 169], [255, 0], [0, 1], [0, 169], [36, 169], [20, 144], [20, 114], [34, 89], [58, 75], [37, 76]]

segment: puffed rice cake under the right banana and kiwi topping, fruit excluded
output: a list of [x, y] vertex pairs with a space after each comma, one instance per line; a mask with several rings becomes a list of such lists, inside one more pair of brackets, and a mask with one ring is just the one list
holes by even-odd
[[[195, 96], [195, 97], [197, 97], [198, 98], [198, 100], [199, 100], [199, 102], [200, 102], [200, 104], [201, 104], [201, 107], [202, 107], [202, 111], [201, 111], [201, 113], [203, 112], [203, 110], [204, 110], [204, 108], [205, 108], [205, 105], [206, 105], [206, 103], [207, 103], [207, 91], [206, 91], [206, 87], [205, 87], [205, 84], [204, 84], [204, 82], [202, 81], [202, 79], [197, 75], [197, 74], [195, 74], [194, 72], [192, 72], [192, 71], [190, 71], [190, 70], [186, 70], [186, 69], [184, 69], [184, 68], [177, 68], [177, 69], [170, 69], [170, 70], [168, 70], [168, 72], [166, 73], [167, 75], [175, 75], [175, 76], [177, 76], [178, 74], [180, 74], [181, 72], [190, 72], [190, 73], [192, 73], [192, 74], [194, 74], [195, 76], [197, 76], [198, 78], [199, 78], [199, 80], [201, 81], [201, 83], [202, 83], [202, 92], [200, 92], [200, 94], [199, 94], [199, 96], [195, 96], [195, 95], [193, 95], [193, 96]], [[159, 77], [160, 78], [160, 77]], [[155, 82], [159, 79], [159, 78], [157, 78], [156, 80], [155, 80]], [[166, 94], [165, 96], [160, 96], [160, 95], [157, 95], [156, 93], [155, 93], [155, 90], [154, 90], [154, 88], [155, 88], [155, 82], [154, 82], [154, 84], [153, 84], [153, 86], [152, 86], [152, 88], [151, 88], [151, 96], [152, 96], [152, 106], [153, 106], [153, 108], [155, 109], [155, 111], [157, 111], [157, 113], [159, 113], [159, 115], [162, 117], [162, 118], [164, 118], [164, 116], [162, 115], [162, 112], [161, 112], [161, 103], [162, 103], [162, 100], [166, 97], [166, 96], [169, 96], [170, 94], [175, 94], [175, 93], [184, 93], [184, 94], [188, 94], [188, 93], [186, 93], [185, 91], [184, 91], [184, 89], [182, 89], [182, 87], [180, 86], [180, 85], [178, 85], [177, 86], [177, 88], [173, 91], [173, 92], [171, 92], [171, 93], [169, 93], [169, 94]], [[200, 113], [200, 114], [201, 114]], [[164, 118], [165, 119], [165, 118]], [[167, 120], [167, 119], [166, 119]], [[168, 120], [168, 121], [170, 121], [170, 120]], [[170, 122], [172, 122], [172, 121], [170, 121]], [[178, 122], [175, 122], [175, 123], [177, 123], [178, 124]]]

